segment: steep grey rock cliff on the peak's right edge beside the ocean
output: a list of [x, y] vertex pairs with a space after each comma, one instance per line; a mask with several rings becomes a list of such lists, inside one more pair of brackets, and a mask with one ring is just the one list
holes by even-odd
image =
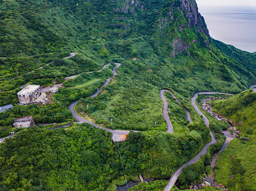
[[188, 27], [199, 27], [200, 32], [203, 32], [210, 39], [209, 31], [207, 29], [204, 17], [200, 15], [198, 11], [198, 6], [195, 0], [181, 0], [181, 10], [184, 16], [189, 22]]

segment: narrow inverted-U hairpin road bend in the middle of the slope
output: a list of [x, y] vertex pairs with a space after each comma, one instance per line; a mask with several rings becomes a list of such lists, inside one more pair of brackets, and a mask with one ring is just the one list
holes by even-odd
[[[164, 92], [169, 92], [172, 95], [172, 97], [174, 97], [174, 99], [176, 99], [177, 103], [179, 103], [179, 104], [181, 104], [181, 103], [177, 100], [175, 95], [170, 90], [161, 90], [160, 91], [160, 96], [163, 100], [163, 117], [165, 118], [166, 125], [167, 125], [167, 131], [166, 132], [169, 132], [170, 134], [173, 134], [174, 130], [173, 130], [172, 122], [170, 122], [170, 118], [169, 118], [169, 115], [168, 115], [168, 111], [167, 111], [168, 103], [167, 103], [167, 100], [165, 99], [165, 95], [163, 94]], [[184, 110], [186, 111], [187, 120], [190, 121], [190, 123], [192, 123], [190, 113], [188, 112], [188, 110], [186, 110], [186, 108], [184, 108]]]

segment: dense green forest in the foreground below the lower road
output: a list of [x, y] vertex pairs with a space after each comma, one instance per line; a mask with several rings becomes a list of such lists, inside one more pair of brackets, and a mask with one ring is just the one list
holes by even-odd
[[[190, 125], [186, 135], [130, 132], [120, 150], [128, 180], [139, 174], [169, 178], [191, 159], [200, 139]], [[200, 125], [204, 131], [204, 125]], [[26, 190], [106, 190], [125, 183], [112, 134], [89, 124], [68, 129], [34, 127], [0, 144], [0, 187]], [[8, 166], [8, 167], [7, 167]], [[136, 179], [137, 177], [137, 179]]]

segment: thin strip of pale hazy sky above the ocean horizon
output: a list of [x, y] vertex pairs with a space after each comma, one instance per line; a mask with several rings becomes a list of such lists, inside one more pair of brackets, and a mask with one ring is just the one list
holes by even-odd
[[200, 6], [255, 6], [256, 0], [196, 0]]

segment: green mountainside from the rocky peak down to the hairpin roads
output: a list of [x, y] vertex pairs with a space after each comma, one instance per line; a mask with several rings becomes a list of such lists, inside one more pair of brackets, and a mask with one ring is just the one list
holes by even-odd
[[[191, 108], [193, 92], [240, 92], [256, 81], [255, 55], [211, 39], [195, 2], [44, 0], [1, 4], [0, 35], [4, 41], [0, 55], [8, 57], [0, 59], [1, 105], [18, 103], [16, 93], [24, 83], [45, 85], [54, 78], [61, 81], [78, 71], [121, 62], [116, 83], [110, 84], [105, 94], [81, 101], [91, 106], [84, 112], [106, 125], [112, 117], [121, 129], [149, 130], [154, 122], [163, 129], [162, 88], [174, 90]], [[44, 66], [68, 52], [80, 53], [61, 64]], [[34, 57], [26, 57], [31, 55]], [[35, 70], [40, 66], [43, 69]], [[67, 92], [72, 99], [61, 99], [66, 106], [86, 98], [65, 88], [61, 94]]]

